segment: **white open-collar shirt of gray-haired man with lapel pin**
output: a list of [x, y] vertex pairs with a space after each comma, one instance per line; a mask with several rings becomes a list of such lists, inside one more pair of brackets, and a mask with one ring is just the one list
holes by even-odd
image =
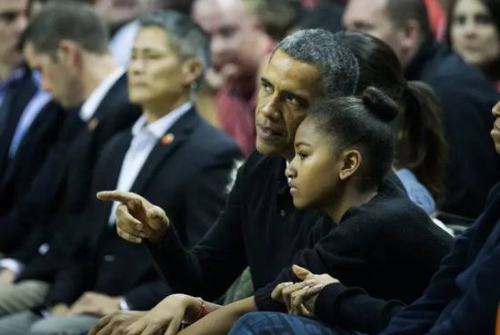
[[[142, 115], [132, 127], [132, 142], [125, 153], [120, 176], [116, 185], [117, 191], [128, 192], [142, 170], [149, 154], [153, 151], [156, 143], [165, 135], [172, 125], [182, 117], [193, 103], [188, 102], [177, 107], [174, 111], [156, 120], [154, 123], [146, 124], [145, 115]], [[115, 211], [119, 202], [113, 202], [109, 215], [109, 224], [115, 224]]]

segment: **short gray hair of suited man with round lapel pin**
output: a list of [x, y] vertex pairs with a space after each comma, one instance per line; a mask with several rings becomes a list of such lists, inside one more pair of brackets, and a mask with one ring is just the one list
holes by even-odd
[[139, 19], [141, 27], [158, 26], [165, 29], [168, 43], [182, 60], [198, 58], [204, 69], [210, 64], [207, 34], [187, 15], [175, 11], [157, 11]]

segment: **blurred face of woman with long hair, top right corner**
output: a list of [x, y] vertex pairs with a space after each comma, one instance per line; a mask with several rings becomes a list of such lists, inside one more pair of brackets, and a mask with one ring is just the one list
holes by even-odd
[[466, 62], [481, 65], [500, 57], [500, 35], [480, 0], [458, 0], [451, 20], [452, 46]]

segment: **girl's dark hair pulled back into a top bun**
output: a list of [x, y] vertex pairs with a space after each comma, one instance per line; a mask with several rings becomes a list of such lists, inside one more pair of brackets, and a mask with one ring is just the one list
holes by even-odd
[[307, 114], [321, 132], [335, 138], [337, 151], [355, 148], [362, 155], [362, 191], [378, 186], [393, 163], [394, 136], [390, 122], [397, 115], [396, 103], [375, 87], [360, 97], [325, 100]]

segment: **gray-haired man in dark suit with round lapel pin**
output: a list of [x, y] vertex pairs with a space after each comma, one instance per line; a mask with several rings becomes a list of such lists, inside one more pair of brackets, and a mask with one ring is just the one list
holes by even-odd
[[[158, 13], [141, 20], [128, 78], [130, 100], [141, 104], [144, 114], [132, 132], [106, 144], [93, 182], [95, 191], [117, 188], [161, 203], [188, 246], [204, 236], [222, 210], [229, 174], [240, 155], [235, 143], [205, 123], [190, 102], [207, 50], [205, 34], [185, 15]], [[62, 242], [51, 243], [51, 250], [20, 277], [41, 280], [35, 271], [51, 269], [51, 263], [72, 253], [53, 275], [45, 300], [53, 315], [41, 319], [27, 311], [5, 317], [0, 334], [77, 334], [90, 329], [95, 317], [120, 309], [147, 310], [174, 292], [155, 271], [147, 249], [116, 235], [115, 206], [95, 200], [81, 223], [66, 218], [65, 229], [58, 232]]]

